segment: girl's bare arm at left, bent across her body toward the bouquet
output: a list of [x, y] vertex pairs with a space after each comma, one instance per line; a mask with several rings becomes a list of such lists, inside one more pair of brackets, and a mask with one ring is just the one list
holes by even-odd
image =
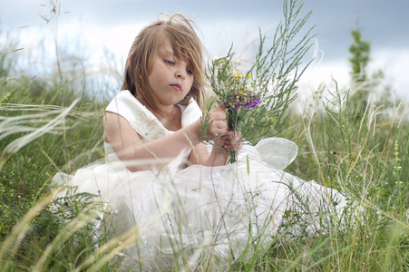
[[[128, 170], [151, 170], [152, 164], [160, 168], [165, 164], [161, 162], [161, 159], [173, 158], [183, 149], [190, 149], [191, 145], [199, 145], [200, 147], [202, 138], [204, 138], [203, 140], [212, 140], [218, 135], [227, 135], [229, 131], [226, 114], [222, 110], [222, 107], [218, 107], [209, 113], [209, 118], [212, 121], [204, 137], [202, 137], [201, 123], [198, 120], [168, 136], [146, 143], [142, 143], [138, 133], [122, 116], [106, 112], [103, 119], [104, 140], [111, 144], [113, 151], [122, 161], [138, 160], [140, 162], [144, 159], [154, 159], [155, 161], [142, 165], [140, 163], [138, 165], [130, 164], [127, 165]], [[202, 154], [201, 152], [200, 149], [200, 154]]]

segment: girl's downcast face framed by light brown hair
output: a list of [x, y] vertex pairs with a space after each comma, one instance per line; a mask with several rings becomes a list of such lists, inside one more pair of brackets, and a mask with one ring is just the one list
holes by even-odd
[[188, 63], [174, 56], [168, 40], [156, 53], [148, 81], [158, 102], [163, 106], [180, 102], [190, 92], [193, 74]]

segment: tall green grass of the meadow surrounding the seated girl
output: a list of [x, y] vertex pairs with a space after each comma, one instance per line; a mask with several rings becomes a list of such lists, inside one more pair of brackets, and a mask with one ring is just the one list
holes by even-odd
[[[18, 54], [0, 55], [0, 270], [116, 271], [121, 245], [95, 238], [87, 195], [46, 209], [56, 172], [103, 159], [103, 95], [86, 92], [94, 85], [78, 63], [64, 67], [70, 73], [55, 68], [31, 78], [16, 70]], [[193, 268], [409, 270], [409, 103], [392, 100], [375, 79], [351, 85], [317, 87], [297, 102], [303, 111], [287, 110], [278, 136], [299, 148], [287, 171], [344, 192], [363, 207], [362, 221], [346, 231], [274, 239], [268, 248], [249, 245], [256, 247], [250, 258], [208, 257]], [[370, 101], [374, 92], [381, 99]], [[176, 256], [174, 270], [182, 269]]]

